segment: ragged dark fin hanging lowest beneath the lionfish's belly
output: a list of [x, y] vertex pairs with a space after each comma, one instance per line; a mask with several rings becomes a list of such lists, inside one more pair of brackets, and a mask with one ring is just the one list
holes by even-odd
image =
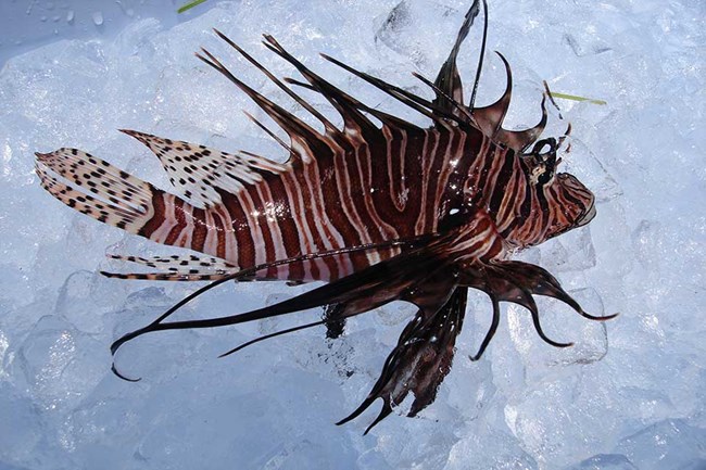
[[[467, 288], [446, 291], [449, 283], [440, 280], [440, 295], [420, 302], [414, 319], [400, 335], [398, 345], [388, 356], [380, 378], [368, 396], [355, 411], [337, 424], [343, 424], [365, 411], [375, 401], [382, 398], [382, 409], [365, 430], [367, 434], [382, 419], [392, 412], [412, 392], [414, 401], [407, 416], [414, 417], [436, 396], [439, 385], [451, 370], [456, 336], [461, 332], [466, 312]], [[451, 295], [449, 295], [449, 293]], [[440, 306], [441, 305], [441, 306]]]

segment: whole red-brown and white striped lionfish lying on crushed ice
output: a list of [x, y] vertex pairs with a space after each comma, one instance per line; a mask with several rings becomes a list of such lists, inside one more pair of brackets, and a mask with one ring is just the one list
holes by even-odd
[[[111, 346], [113, 356], [126, 342], [144, 333], [214, 328], [325, 307], [320, 321], [260, 336], [264, 339], [327, 327], [343, 331], [346, 318], [393, 301], [418, 310], [402, 331], [380, 378], [344, 423], [382, 398], [382, 409], [367, 431], [413, 393], [408, 416], [431, 404], [449, 373], [456, 336], [462, 330], [469, 289], [484, 292], [492, 322], [477, 354], [481, 357], [495, 333], [500, 303], [525, 307], [542, 340], [557, 347], [540, 325], [533, 295], [557, 298], [587, 314], [559, 282], [539, 266], [510, 261], [518, 249], [537, 245], [595, 216], [594, 196], [579, 180], [556, 173], [560, 138], [538, 140], [547, 122], [517, 131], [502, 127], [512, 75], [505, 58], [507, 86], [493, 104], [475, 107], [488, 31], [469, 104], [464, 104], [456, 56], [480, 11], [476, 0], [434, 81], [415, 74], [433, 92], [426, 99], [380, 78], [323, 56], [377, 87], [430, 120], [429, 127], [364, 104], [312, 72], [272, 36], [263, 43], [289, 62], [304, 81], [280, 80], [223, 33], [215, 33], [323, 125], [323, 131], [268, 100], [236, 77], [207, 50], [197, 56], [248, 94], [288, 135], [279, 138], [250, 118], [289, 153], [277, 163], [255, 153], [231, 154], [189, 142], [122, 130], [156, 154], [175, 190], [171, 193], [77, 149], [37, 153], [42, 187], [74, 209], [157, 243], [204, 254], [112, 257], [161, 268], [151, 274], [111, 274], [121, 279], [213, 281], [153, 322], [125, 334]], [[285, 82], [320, 93], [342, 118], [336, 126]], [[373, 119], [374, 118], [374, 119]], [[71, 183], [71, 186], [70, 186]], [[238, 315], [167, 321], [176, 309], [228, 280], [326, 281], [293, 298]], [[113, 365], [113, 371], [122, 376]]]

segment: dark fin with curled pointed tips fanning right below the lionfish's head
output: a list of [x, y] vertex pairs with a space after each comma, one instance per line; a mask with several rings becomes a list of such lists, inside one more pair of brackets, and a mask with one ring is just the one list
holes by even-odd
[[500, 319], [500, 302], [509, 302], [527, 308], [532, 315], [532, 322], [540, 338], [555, 347], [567, 347], [573, 343], [559, 343], [546, 336], [540, 325], [539, 310], [532, 295], [559, 300], [590, 320], [604, 321], [617, 316], [616, 314], [597, 317], [587, 314], [578, 302], [564, 291], [556, 278], [541, 267], [528, 263], [502, 261], [483, 266], [469, 266], [462, 272], [459, 282], [462, 285], [482, 290], [490, 296], [493, 304], [491, 327], [478, 353], [470, 356], [471, 360], [477, 360], [482, 356], [495, 334]]

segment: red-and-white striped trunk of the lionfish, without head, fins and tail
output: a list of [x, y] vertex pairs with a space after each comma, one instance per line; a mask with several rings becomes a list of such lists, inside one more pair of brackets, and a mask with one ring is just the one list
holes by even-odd
[[[365, 145], [348, 135], [327, 142], [328, 153], [263, 175], [222, 204], [201, 209], [159, 192], [154, 215], [139, 233], [249, 268], [307, 253], [379, 244], [437, 233], [450, 213], [466, 205], [465, 187], [499, 150], [479, 131], [376, 129]], [[143, 136], [143, 139], [156, 139]], [[325, 156], [325, 157], [323, 157]], [[470, 195], [472, 198], [472, 195]], [[266, 269], [268, 279], [331, 281], [396, 255], [369, 250]]]

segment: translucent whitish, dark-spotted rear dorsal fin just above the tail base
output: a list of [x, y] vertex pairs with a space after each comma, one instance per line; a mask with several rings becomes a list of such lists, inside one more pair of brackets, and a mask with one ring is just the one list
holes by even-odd
[[144, 143], [160, 158], [172, 185], [191, 202], [211, 207], [222, 203], [218, 189], [236, 193], [261, 181], [263, 174], [281, 174], [287, 165], [252, 154], [234, 155], [204, 145], [121, 129]]

